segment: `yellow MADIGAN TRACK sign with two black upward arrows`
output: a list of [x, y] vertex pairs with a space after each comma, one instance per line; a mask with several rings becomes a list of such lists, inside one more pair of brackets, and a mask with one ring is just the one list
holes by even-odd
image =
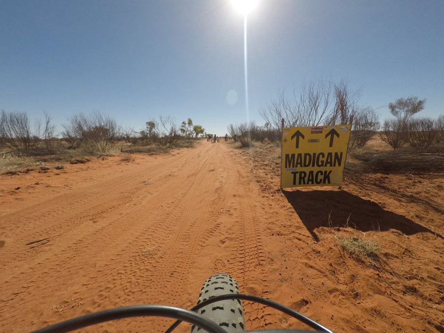
[[350, 127], [284, 127], [281, 187], [341, 186]]

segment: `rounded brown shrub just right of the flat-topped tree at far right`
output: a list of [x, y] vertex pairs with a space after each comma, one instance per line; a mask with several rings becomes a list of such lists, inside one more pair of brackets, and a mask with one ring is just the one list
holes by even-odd
[[407, 127], [406, 141], [411, 147], [427, 148], [436, 140], [436, 123], [431, 118], [412, 119]]

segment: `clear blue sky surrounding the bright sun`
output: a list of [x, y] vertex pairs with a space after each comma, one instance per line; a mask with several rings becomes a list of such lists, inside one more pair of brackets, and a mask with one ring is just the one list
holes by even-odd
[[[279, 89], [331, 74], [362, 104], [426, 98], [444, 113], [444, 0], [261, 0], [248, 20], [251, 119]], [[243, 16], [229, 0], [0, 0], [0, 109], [57, 124], [99, 110], [123, 126], [246, 120]], [[238, 101], [227, 103], [228, 91]]]

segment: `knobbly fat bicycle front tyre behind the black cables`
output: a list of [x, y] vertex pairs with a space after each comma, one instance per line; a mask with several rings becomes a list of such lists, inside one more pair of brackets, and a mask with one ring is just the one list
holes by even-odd
[[[200, 291], [197, 304], [214, 296], [239, 294], [235, 279], [226, 273], [217, 273], [206, 280]], [[227, 333], [240, 333], [245, 329], [244, 309], [238, 299], [228, 299], [204, 306], [198, 311], [201, 316], [221, 326]], [[206, 333], [192, 325], [190, 333]]]

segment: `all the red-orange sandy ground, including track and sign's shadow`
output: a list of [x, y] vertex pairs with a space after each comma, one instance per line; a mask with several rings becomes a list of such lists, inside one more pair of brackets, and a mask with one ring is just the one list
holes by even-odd
[[[342, 191], [281, 193], [274, 151], [202, 142], [134, 163], [1, 176], [0, 332], [124, 305], [189, 308], [221, 271], [241, 292], [336, 332], [444, 332], [443, 176], [369, 175]], [[380, 242], [383, 259], [350, 258], [335, 246], [339, 233]], [[244, 308], [249, 330], [304, 328]], [[162, 332], [171, 322], [81, 332]]]

